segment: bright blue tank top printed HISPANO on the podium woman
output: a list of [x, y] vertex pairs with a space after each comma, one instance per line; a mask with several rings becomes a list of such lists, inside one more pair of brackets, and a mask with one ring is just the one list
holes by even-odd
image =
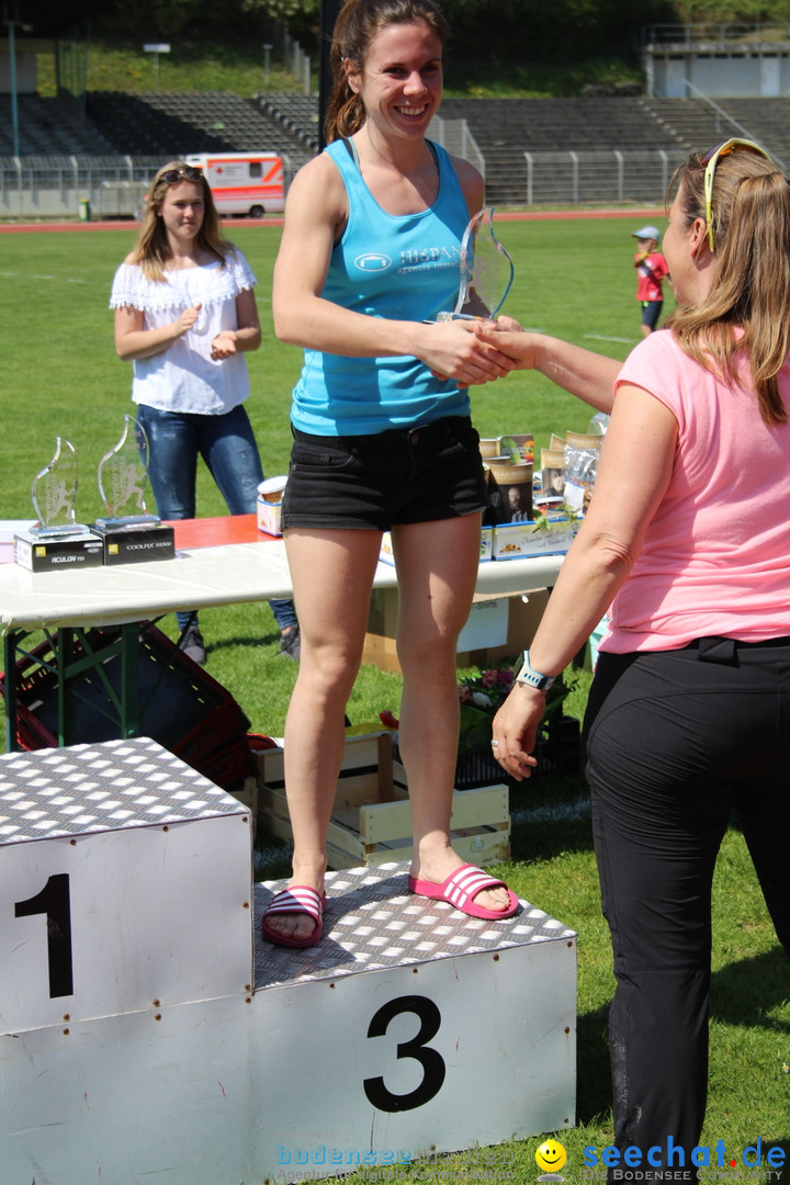
[[[332, 251], [321, 293], [326, 300], [371, 316], [417, 322], [435, 321], [455, 307], [469, 211], [447, 152], [430, 147], [439, 171], [436, 201], [403, 217], [381, 210], [345, 141], [325, 149], [348, 193], [348, 224]], [[307, 350], [291, 419], [315, 436], [370, 436], [468, 415], [468, 392], [433, 378], [413, 357], [343, 358]]]

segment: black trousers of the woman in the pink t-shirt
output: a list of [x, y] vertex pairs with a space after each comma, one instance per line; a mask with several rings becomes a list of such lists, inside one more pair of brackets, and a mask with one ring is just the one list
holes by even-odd
[[616, 976], [615, 1144], [644, 1155], [672, 1138], [692, 1180], [707, 1098], [711, 885], [733, 811], [790, 955], [790, 639], [600, 654], [584, 732]]

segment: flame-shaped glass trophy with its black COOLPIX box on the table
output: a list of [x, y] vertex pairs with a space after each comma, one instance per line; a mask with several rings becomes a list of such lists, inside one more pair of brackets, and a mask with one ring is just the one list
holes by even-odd
[[146, 510], [148, 437], [134, 416], [123, 417], [121, 437], [98, 462], [98, 492], [107, 514], [94, 530], [104, 539], [104, 563], [169, 559], [173, 527]]

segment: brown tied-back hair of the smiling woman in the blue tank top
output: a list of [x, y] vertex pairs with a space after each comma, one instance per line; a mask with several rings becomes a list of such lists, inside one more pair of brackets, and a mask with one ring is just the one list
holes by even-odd
[[343, 63], [365, 69], [365, 57], [377, 33], [390, 25], [428, 25], [442, 44], [450, 27], [433, 0], [345, 0], [332, 36], [332, 94], [327, 103], [327, 143], [352, 136], [365, 123], [365, 105], [348, 85]]

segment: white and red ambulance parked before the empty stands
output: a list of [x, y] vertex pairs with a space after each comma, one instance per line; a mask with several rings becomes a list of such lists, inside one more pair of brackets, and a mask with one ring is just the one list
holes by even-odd
[[203, 169], [220, 214], [261, 218], [285, 205], [285, 169], [277, 153], [195, 153], [184, 159]]

